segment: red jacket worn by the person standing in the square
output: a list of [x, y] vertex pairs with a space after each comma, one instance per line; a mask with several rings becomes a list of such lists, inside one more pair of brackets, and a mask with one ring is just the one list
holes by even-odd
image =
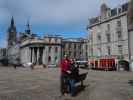
[[67, 73], [67, 71], [70, 69], [70, 60], [69, 59], [63, 59], [60, 63], [61, 73]]

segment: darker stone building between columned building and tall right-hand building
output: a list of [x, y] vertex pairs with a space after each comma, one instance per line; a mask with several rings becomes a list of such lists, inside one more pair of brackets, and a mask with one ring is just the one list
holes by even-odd
[[67, 38], [62, 40], [63, 55], [67, 54], [70, 58], [77, 60], [87, 59], [87, 39]]

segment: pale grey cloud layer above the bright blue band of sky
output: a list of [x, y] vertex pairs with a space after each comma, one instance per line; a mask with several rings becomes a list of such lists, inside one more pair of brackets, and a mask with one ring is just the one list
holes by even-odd
[[[32, 25], [65, 27], [78, 24], [85, 30], [88, 18], [99, 14], [103, 0], [0, 0], [0, 24], [9, 25], [14, 16], [17, 25], [25, 25], [30, 19]], [[114, 7], [126, 0], [104, 0]], [[59, 29], [59, 28], [58, 28]], [[78, 27], [77, 27], [78, 30]], [[69, 30], [70, 31], [70, 30]]]

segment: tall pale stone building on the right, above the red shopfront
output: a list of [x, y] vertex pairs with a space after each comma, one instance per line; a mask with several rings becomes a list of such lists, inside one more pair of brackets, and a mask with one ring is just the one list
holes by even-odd
[[100, 15], [89, 20], [89, 59], [129, 60], [127, 10], [128, 3], [114, 9], [102, 4]]

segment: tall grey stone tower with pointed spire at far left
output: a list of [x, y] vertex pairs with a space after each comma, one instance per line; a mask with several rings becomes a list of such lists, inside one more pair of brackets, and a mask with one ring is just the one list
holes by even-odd
[[14, 22], [14, 18], [11, 18], [11, 23], [8, 28], [8, 37], [7, 37], [7, 59], [8, 63], [17, 63], [17, 59], [19, 59], [19, 47], [16, 25]]

